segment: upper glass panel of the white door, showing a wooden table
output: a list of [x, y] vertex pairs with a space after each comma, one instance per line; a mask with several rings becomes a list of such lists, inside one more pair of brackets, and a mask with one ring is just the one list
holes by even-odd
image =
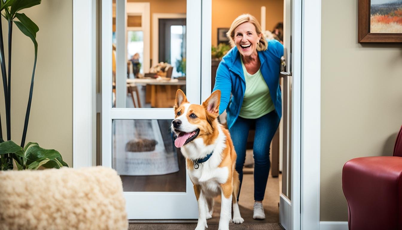
[[186, 92], [185, 13], [185, 0], [113, 0], [112, 108], [172, 108]]

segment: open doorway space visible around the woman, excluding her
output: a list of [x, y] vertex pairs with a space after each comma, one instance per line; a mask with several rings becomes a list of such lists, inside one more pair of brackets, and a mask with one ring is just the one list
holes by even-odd
[[[225, 8], [224, 11], [222, 9]], [[256, 17], [256, 19], [260, 22], [262, 27], [262, 31], [266, 39], [277, 39], [285, 46], [285, 50], [291, 52], [290, 50], [290, 33], [291, 27], [289, 24], [289, 19], [285, 19], [286, 16], [286, 4], [283, 0], [277, 1], [256, 1], [253, 2], [252, 5], [247, 6], [244, 5], [244, 2], [241, 1], [225, 1], [225, 0], [212, 0], [211, 1], [211, 28], [209, 28], [210, 41], [211, 41], [211, 89], [215, 83], [215, 75], [216, 70], [219, 65], [219, 62], [222, 60], [222, 57], [228, 52], [232, 46], [229, 44], [229, 39], [226, 37], [226, 32], [228, 31], [232, 21], [242, 15], [244, 13], [249, 13]], [[289, 6], [287, 8], [288, 12], [291, 12]], [[203, 13], [203, 16], [206, 16]], [[284, 19], [287, 25], [283, 25]], [[208, 23], [203, 19], [203, 23]], [[287, 26], [287, 27], [286, 27]], [[284, 36], [284, 31], [287, 29], [287, 33]], [[207, 29], [205, 31], [208, 31]], [[203, 33], [205, 33], [203, 31]], [[286, 37], [287, 36], [287, 37]], [[286, 40], [286, 41], [285, 41]], [[291, 62], [287, 62], [287, 58], [289, 54], [285, 54], [285, 61], [289, 65]], [[282, 69], [283, 72], [291, 72], [291, 66], [284, 67]], [[242, 189], [240, 191], [239, 205], [240, 211], [242, 212], [242, 217], [245, 219], [245, 222], [248, 223], [279, 223], [279, 203], [280, 203], [280, 195], [282, 195], [282, 199], [289, 200], [291, 194], [291, 184], [290, 180], [291, 164], [288, 162], [291, 160], [289, 157], [283, 157], [283, 152], [286, 156], [291, 154], [290, 151], [290, 143], [289, 140], [290, 129], [287, 128], [289, 125], [289, 116], [291, 113], [287, 109], [291, 101], [289, 90], [291, 89], [291, 83], [289, 79], [291, 78], [289, 75], [281, 75], [281, 88], [283, 95], [283, 120], [279, 125], [278, 131], [271, 143], [271, 168], [269, 172], [269, 178], [267, 181], [267, 188], [265, 190], [265, 197], [263, 200], [263, 207], [265, 209], [265, 220], [253, 220], [253, 203], [254, 203], [254, 160], [253, 160], [253, 151], [252, 144], [254, 141], [254, 129], [250, 130], [247, 140], [247, 150], [246, 150], [246, 162], [243, 168], [243, 183]], [[286, 88], [284, 88], [286, 87]], [[286, 94], [286, 97], [284, 93]], [[287, 116], [284, 116], [286, 113]], [[221, 123], [226, 122], [226, 114], [222, 114], [220, 117]], [[285, 120], [284, 120], [285, 119]], [[291, 120], [291, 119], [290, 119]], [[283, 126], [285, 125], [285, 128]], [[285, 130], [285, 133], [284, 133]], [[284, 140], [284, 138], [287, 138]], [[285, 142], [285, 143], [284, 143]], [[283, 167], [283, 165], [288, 167]], [[283, 175], [285, 177], [283, 178]], [[289, 194], [289, 196], [288, 196]], [[286, 205], [290, 205], [290, 201], [286, 203]], [[283, 204], [285, 206], [285, 204]], [[290, 206], [287, 206], [290, 207]], [[284, 207], [281, 207], [284, 209]], [[282, 222], [284, 219], [289, 220], [291, 214], [289, 212], [283, 212]], [[283, 223], [286, 226], [286, 223]], [[290, 229], [290, 228], [287, 228]]]

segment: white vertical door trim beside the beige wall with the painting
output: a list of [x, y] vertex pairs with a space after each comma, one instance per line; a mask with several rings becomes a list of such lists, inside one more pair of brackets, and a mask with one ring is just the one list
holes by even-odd
[[[297, 1], [301, 2], [301, 0]], [[302, 15], [300, 17], [302, 56], [299, 59], [301, 60], [301, 82], [298, 82], [298, 84], [301, 83], [299, 85], [301, 92], [293, 93], [293, 95], [301, 95], [301, 110], [299, 110], [301, 119], [297, 117], [301, 120], [299, 129], [301, 131], [299, 139], [301, 229], [318, 230], [320, 228], [321, 157], [321, 0], [302, 2], [302, 4], [296, 4], [297, 8], [300, 5], [302, 9], [299, 11]], [[294, 37], [294, 39], [297, 38]]]

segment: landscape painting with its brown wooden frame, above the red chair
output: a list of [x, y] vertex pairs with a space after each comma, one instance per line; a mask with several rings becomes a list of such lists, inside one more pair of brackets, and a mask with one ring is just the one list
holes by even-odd
[[401, 7], [399, 0], [359, 0], [359, 43], [402, 42]]

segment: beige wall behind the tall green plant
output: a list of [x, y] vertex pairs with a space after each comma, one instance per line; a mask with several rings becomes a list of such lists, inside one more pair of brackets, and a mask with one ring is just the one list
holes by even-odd
[[[72, 166], [72, 0], [47, 0], [22, 10], [38, 27], [38, 60], [26, 142], [56, 149]], [[3, 22], [3, 37], [8, 33]], [[5, 45], [5, 47], [7, 47]], [[5, 50], [8, 56], [7, 49]], [[12, 33], [11, 137], [18, 145], [24, 128], [34, 60], [31, 39], [18, 27]], [[8, 63], [8, 61], [6, 61]], [[0, 114], [6, 135], [4, 92], [0, 81]]]

